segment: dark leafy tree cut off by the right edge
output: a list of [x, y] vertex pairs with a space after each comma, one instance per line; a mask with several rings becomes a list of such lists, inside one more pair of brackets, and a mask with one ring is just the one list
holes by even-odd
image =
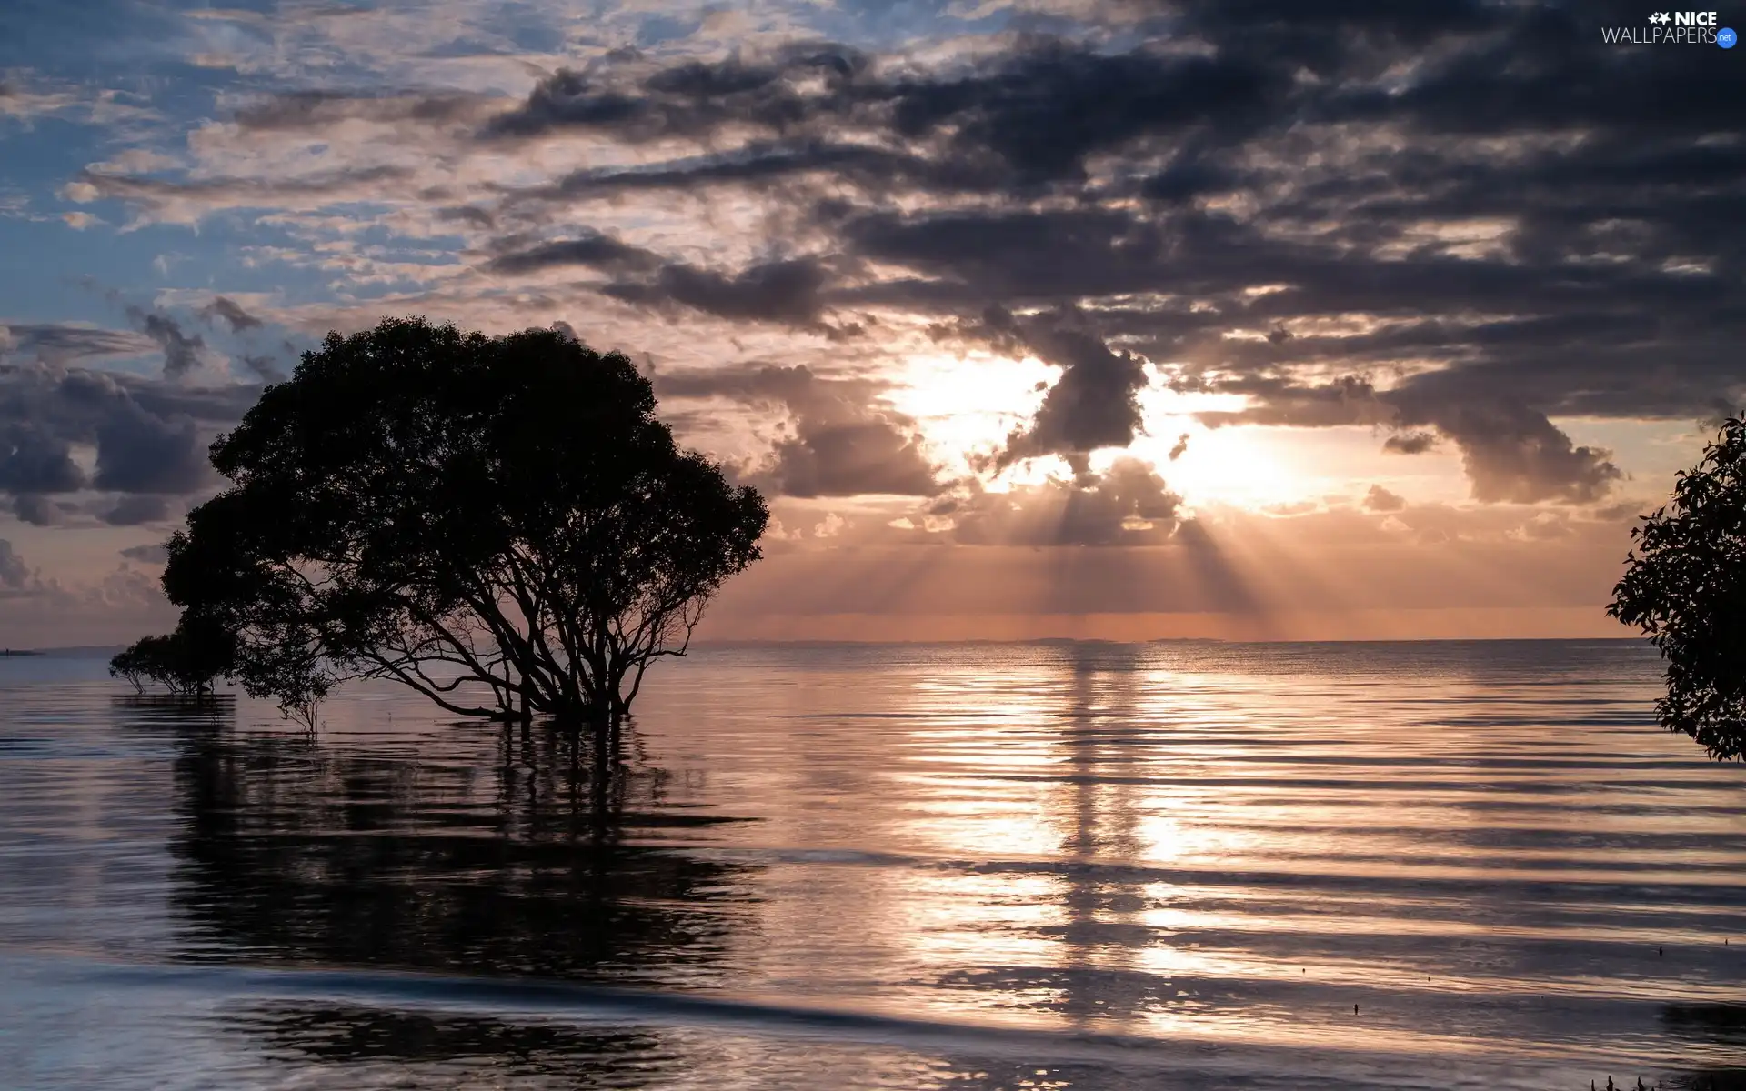
[[1730, 417], [1673, 499], [1631, 531], [1606, 613], [1667, 662], [1655, 714], [1711, 758], [1746, 752], [1746, 421]]

